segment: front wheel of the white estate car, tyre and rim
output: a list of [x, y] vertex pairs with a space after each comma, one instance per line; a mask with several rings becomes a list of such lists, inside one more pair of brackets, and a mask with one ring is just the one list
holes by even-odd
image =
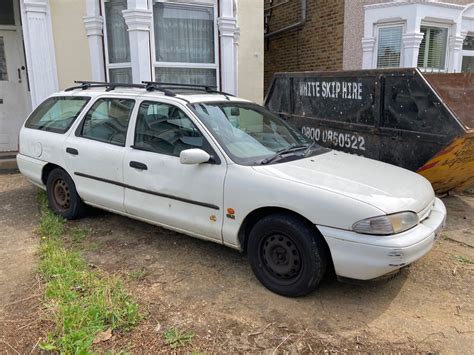
[[253, 272], [269, 290], [288, 297], [312, 292], [326, 272], [328, 250], [314, 228], [290, 214], [264, 217], [250, 232]]

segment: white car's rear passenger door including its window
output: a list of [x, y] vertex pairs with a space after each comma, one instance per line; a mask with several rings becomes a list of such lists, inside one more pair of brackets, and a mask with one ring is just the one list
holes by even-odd
[[97, 99], [65, 141], [66, 166], [81, 198], [123, 212], [123, 158], [135, 100]]

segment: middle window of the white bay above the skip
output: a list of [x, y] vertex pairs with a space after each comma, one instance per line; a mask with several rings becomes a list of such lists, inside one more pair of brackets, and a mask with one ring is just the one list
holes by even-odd
[[418, 54], [418, 67], [425, 70], [445, 70], [448, 29], [421, 26], [420, 31], [423, 33], [423, 40]]

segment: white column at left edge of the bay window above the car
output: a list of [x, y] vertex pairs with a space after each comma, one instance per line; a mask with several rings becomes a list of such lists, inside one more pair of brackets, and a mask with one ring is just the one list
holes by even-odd
[[87, 15], [82, 19], [89, 41], [91, 79], [94, 81], [105, 81], [104, 19], [100, 15], [100, 3], [95, 0], [86, 0], [86, 9]]

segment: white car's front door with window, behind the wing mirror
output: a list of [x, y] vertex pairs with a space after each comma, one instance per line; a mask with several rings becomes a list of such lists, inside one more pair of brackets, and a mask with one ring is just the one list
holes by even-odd
[[[205, 150], [212, 161], [181, 164], [181, 151], [190, 148]], [[142, 102], [123, 169], [128, 213], [200, 238], [222, 240], [227, 165], [183, 109]]]

